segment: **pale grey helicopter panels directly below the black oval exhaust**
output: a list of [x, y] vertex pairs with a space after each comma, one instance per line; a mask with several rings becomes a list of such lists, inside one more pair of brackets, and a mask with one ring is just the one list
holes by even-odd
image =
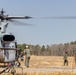
[[[5, 42], [4, 47], [7, 48], [4, 50], [4, 62], [11, 62], [16, 59], [16, 43], [15, 42]], [[9, 50], [8, 50], [9, 48]]]

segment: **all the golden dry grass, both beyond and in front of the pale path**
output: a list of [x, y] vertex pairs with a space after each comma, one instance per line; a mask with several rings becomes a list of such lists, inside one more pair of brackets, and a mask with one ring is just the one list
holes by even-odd
[[[21, 62], [21, 66], [24, 66], [24, 61]], [[64, 67], [62, 56], [31, 56], [29, 68], [48, 68], [48, 67]], [[75, 67], [74, 57], [68, 57], [68, 67]], [[27, 68], [26, 68], [27, 69]], [[25, 70], [26, 70], [25, 69]], [[2, 74], [4, 75], [4, 74]], [[11, 75], [11, 74], [6, 74]], [[17, 72], [15, 75], [22, 75]], [[75, 72], [26, 72], [24, 75], [76, 75]]]

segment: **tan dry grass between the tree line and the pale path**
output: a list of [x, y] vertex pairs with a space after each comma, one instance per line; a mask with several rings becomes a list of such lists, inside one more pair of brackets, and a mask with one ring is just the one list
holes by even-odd
[[[74, 66], [74, 58], [68, 57], [68, 66]], [[63, 57], [61, 56], [32, 56], [30, 67], [51, 67], [63, 66]]]

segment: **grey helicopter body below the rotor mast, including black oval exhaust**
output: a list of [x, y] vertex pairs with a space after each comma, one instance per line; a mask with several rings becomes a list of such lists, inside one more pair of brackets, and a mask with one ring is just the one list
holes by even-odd
[[0, 63], [15, 61], [16, 41], [10, 33], [0, 34]]

